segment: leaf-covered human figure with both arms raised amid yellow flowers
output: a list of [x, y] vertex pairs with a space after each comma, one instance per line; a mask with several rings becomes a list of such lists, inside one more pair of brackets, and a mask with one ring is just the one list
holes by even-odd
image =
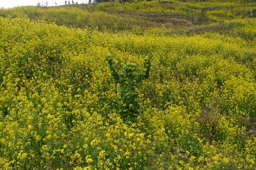
[[138, 73], [137, 66], [134, 63], [127, 63], [122, 68], [123, 73], [119, 73], [116, 68], [117, 62], [113, 59], [113, 56], [108, 55], [106, 57], [109, 64], [112, 77], [115, 79], [116, 84], [120, 84], [120, 98], [119, 103], [119, 116], [123, 121], [135, 123], [137, 116], [140, 113], [140, 96], [138, 90], [141, 87], [142, 80], [149, 78], [149, 71], [151, 67], [151, 56], [147, 56], [144, 59], [144, 68], [142, 73]]

